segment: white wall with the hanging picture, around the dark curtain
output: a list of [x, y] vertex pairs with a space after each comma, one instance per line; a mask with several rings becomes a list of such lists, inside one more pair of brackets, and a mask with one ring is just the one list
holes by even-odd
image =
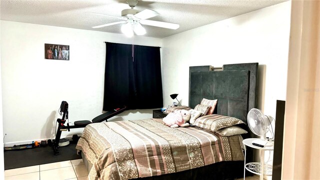
[[[54, 137], [62, 100], [69, 121], [101, 114], [105, 43], [131, 43], [122, 34], [1, 20], [3, 134], [7, 145]], [[135, 44], [162, 46], [162, 40], [135, 37]], [[44, 43], [70, 45], [70, 60], [44, 59]], [[151, 110], [130, 110], [120, 119], [152, 117]], [[62, 132], [70, 136], [83, 128]]]

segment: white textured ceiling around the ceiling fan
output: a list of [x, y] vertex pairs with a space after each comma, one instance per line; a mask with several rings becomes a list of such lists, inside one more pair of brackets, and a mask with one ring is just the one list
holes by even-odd
[[[286, 0], [139, 0], [135, 9], [159, 13], [150, 20], [180, 24], [176, 30], [143, 25], [147, 32], [144, 36], [162, 38], [283, 1]], [[129, 8], [125, 0], [1, 0], [0, 6], [1, 20], [112, 33], [121, 33], [121, 24], [91, 27], [119, 19], [87, 12], [121, 16], [121, 10]]]

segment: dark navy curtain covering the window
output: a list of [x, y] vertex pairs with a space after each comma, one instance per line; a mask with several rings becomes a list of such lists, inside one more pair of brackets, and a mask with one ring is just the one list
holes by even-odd
[[103, 110], [163, 106], [160, 47], [106, 42]]

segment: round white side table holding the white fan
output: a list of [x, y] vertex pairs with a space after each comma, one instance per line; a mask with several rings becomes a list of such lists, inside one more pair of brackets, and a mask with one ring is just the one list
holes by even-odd
[[[264, 150], [273, 150], [273, 145], [272, 146], [264, 146], [264, 147], [259, 147], [256, 145], [252, 144], [252, 141], [257, 138], [247, 138], [243, 139], [242, 143], [244, 144], [244, 172], [243, 172], [243, 179], [245, 179], [245, 169], [260, 175], [260, 180], [263, 179], [263, 174], [264, 175], [272, 175], [272, 165], [269, 164], [264, 164]], [[261, 150], [260, 153], [260, 162], [249, 162], [245, 163], [245, 156], [246, 156], [246, 146], [252, 147], [255, 149]]]

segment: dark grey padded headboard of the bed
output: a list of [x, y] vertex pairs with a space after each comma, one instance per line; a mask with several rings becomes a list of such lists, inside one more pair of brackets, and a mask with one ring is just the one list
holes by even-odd
[[226, 64], [221, 71], [210, 66], [190, 66], [189, 106], [202, 98], [218, 99], [214, 113], [237, 117], [246, 122], [249, 109], [256, 106], [258, 63]]

